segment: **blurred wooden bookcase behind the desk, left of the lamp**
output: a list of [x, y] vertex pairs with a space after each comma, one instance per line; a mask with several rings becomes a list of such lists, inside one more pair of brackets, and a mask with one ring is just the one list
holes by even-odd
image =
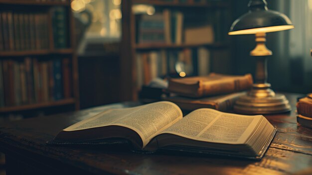
[[[217, 73], [232, 73], [233, 61], [231, 59], [231, 41], [227, 38], [227, 30], [231, 25], [231, 15], [232, 9], [231, 5], [232, 0], [127, 0], [122, 1], [122, 43], [121, 43], [121, 88], [122, 93], [120, 94], [120, 98], [122, 100], [137, 100], [138, 99], [138, 91], [140, 90], [141, 84], [146, 85], [147, 80], [144, 76], [151, 76], [151, 73], [147, 73], [147, 70], [155, 70], [158, 68], [153, 68], [153, 64], [155, 64], [155, 59], [162, 59], [159, 55], [166, 55], [163, 59], [166, 61], [166, 64], [170, 64], [170, 54], [173, 55], [181, 55], [185, 53], [182, 57], [184, 59], [188, 57], [188, 59], [192, 59], [193, 72], [189, 75], [203, 75], [201, 69], [205, 67], [200, 65], [202, 64], [201, 60], [205, 57], [205, 55], [209, 54], [206, 57], [209, 57], [204, 61], [205, 64], [207, 61], [209, 65], [207, 65], [207, 69], [210, 72]], [[154, 14], [150, 14], [149, 17], [148, 12], [146, 13], [136, 13], [134, 9], [139, 5], [148, 5], [155, 9]], [[148, 7], [146, 7], [148, 8]], [[153, 10], [152, 10], [153, 11]], [[169, 15], [168, 15], [169, 13]], [[227, 14], [227, 15], [225, 15]], [[158, 15], [158, 16], [157, 16]], [[161, 21], [161, 16], [163, 21]], [[175, 16], [172, 18], [172, 16]], [[179, 17], [176, 16], [182, 16]], [[169, 17], [168, 17], [169, 16]], [[196, 29], [202, 29], [206, 25], [205, 30], [209, 30], [209, 26], [213, 29], [212, 36], [213, 41], [207, 42], [194, 42], [191, 41], [191, 37], [197, 30], [191, 30], [194, 19], [193, 16], [198, 16], [197, 23], [204, 23], [203, 25], [196, 26]], [[192, 18], [193, 17], [193, 18]], [[160, 20], [159, 20], [160, 18]], [[148, 25], [146, 21], [154, 21], [154, 28], [149, 28], [152, 24]], [[177, 20], [182, 21], [182, 24], [178, 24]], [[195, 21], [195, 20], [194, 20]], [[144, 23], [146, 22], [146, 23]], [[162, 22], [162, 23], [161, 23]], [[193, 22], [193, 23], [192, 23]], [[170, 28], [166, 28], [166, 26], [170, 26]], [[161, 28], [163, 27], [163, 28]], [[173, 30], [172, 28], [175, 27]], [[179, 29], [180, 28], [180, 29]], [[186, 30], [188, 32], [192, 32], [190, 34], [186, 34]], [[175, 35], [174, 32], [179, 32], [179, 35]], [[146, 37], [145, 33], [146, 32]], [[171, 32], [171, 33], [170, 33]], [[158, 35], [150, 38], [153, 33], [160, 33]], [[169, 34], [168, 34], [169, 33]], [[171, 34], [171, 35], [170, 35]], [[160, 36], [159, 36], [160, 35]], [[175, 35], [172, 37], [172, 35]], [[174, 38], [175, 37], [175, 38]], [[148, 39], [146, 39], [148, 38]], [[155, 39], [156, 38], [156, 39]], [[159, 39], [160, 38], [160, 39]], [[168, 39], [169, 38], [169, 39]], [[179, 39], [177, 39], [179, 38]], [[187, 39], [188, 38], [188, 39]], [[198, 38], [198, 36], [197, 36]], [[157, 40], [158, 39], [158, 40]], [[200, 38], [199, 38], [200, 39]], [[151, 41], [152, 40], [152, 41]], [[177, 41], [179, 40], [179, 41]], [[188, 40], [188, 41], [187, 41]], [[201, 50], [199, 53], [198, 50]], [[164, 54], [163, 54], [164, 53]], [[196, 53], [196, 54], [194, 54]], [[148, 56], [147, 56], [148, 54]], [[151, 57], [151, 54], [154, 55], [154, 63]], [[199, 58], [198, 54], [201, 55], [202, 58]], [[168, 56], [169, 55], [169, 56]], [[191, 56], [189, 56], [191, 55]], [[143, 58], [140, 58], [143, 57]], [[147, 58], [148, 57], [148, 58]], [[196, 58], [197, 57], [197, 58]], [[140, 63], [142, 59], [143, 63]], [[146, 67], [145, 64], [147, 61], [145, 59], [150, 59], [150, 67]], [[180, 56], [175, 58], [179, 60]], [[206, 58], [204, 58], [206, 59]], [[139, 63], [138, 63], [139, 62]], [[140, 68], [144, 65], [143, 70]], [[163, 63], [161, 63], [163, 64]], [[159, 65], [161, 65], [159, 64]], [[226, 65], [226, 66], [224, 66]], [[158, 66], [159, 67], [159, 66]], [[162, 72], [166, 72], [165, 75], [161, 77], [172, 77], [172, 66], [166, 66]], [[140, 70], [141, 69], [141, 70]], [[159, 71], [158, 71], [159, 72]], [[207, 72], [207, 71], [206, 71]], [[140, 75], [142, 74], [142, 75]], [[152, 73], [153, 74], [153, 73]], [[174, 73], [173, 73], [174, 74]], [[155, 75], [155, 72], [154, 72]], [[143, 83], [142, 83], [143, 76]], [[157, 74], [159, 76], [159, 74]], [[178, 76], [178, 75], [177, 75]], [[152, 76], [153, 77], [153, 76]], [[155, 76], [154, 76], [155, 77]], [[138, 85], [139, 84], [139, 85]]]

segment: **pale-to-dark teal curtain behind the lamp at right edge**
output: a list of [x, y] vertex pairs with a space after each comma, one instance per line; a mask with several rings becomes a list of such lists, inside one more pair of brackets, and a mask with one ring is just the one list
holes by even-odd
[[277, 90], [312, 93], [312, 0], [274, 0], [271, 5], [269, 9], [286, 14], [295, 28], [268, 33], [273, 51], [268, 80]]

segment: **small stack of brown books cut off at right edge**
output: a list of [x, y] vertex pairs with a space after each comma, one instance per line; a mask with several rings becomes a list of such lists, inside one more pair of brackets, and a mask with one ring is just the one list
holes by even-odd
[[298, 124], [312, 128], [312, 94], [302, 98], [297, 103]]

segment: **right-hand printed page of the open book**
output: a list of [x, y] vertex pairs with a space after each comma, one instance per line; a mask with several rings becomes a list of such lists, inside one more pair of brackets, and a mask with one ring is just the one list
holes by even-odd
[[188, 139], [223, 144], [244, 144], [261, 119], [198, 109], [185, 116], [161, 134], [174, 134]]

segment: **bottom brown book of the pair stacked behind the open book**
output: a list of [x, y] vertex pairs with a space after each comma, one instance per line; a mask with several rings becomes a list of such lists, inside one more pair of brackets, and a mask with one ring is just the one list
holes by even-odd
[[196, 99], [180, 96], [163, 97], [162, 99], [176, 104], [183, 111], [193, 111], [200, 108], [211, 108], [222, 112], [229, 112], [233, 110], [235, 101], [245, 94], [246, 92], [235, 92], [226, 95]]

